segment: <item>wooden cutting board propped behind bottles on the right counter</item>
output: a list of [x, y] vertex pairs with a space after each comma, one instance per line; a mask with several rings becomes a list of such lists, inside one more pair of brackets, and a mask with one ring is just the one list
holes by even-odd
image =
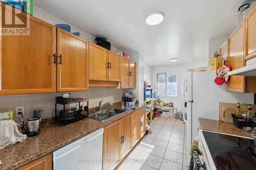
[[[219, 109], [220, 109], [220, 114], [219, 118], [225, 123], [233, 123], [232, 119], [232, 113], [234, 114], [234, 111], [237, 110], [237, 103], [220, 103]], [[248, 104], [241, 104], [241, 111], [242, 112], [247, 112], [247, 107]], [[251, 105], [252, 108], [252, 113], [256, 112], [256, 105]]]

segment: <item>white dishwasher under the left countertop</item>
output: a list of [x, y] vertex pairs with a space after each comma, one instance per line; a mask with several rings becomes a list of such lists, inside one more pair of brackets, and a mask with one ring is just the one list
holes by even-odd
[[53, 170], [102, 169], [103, 128], [53, 152]]

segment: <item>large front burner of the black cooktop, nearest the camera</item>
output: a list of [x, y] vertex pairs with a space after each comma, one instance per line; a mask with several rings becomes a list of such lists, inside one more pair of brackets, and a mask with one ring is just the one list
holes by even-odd
[[[218, 161], [217, 169], [255, 169], [256, 162], [251, 157], [232, 151], [217, 151], [214, 154]], [[253, 168], [254, 167], [254, 168]]]

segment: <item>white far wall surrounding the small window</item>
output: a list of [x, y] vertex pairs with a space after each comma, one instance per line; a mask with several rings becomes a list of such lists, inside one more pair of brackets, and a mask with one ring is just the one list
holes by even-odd
[[174, 107], [177, 107], [178, 111], [183, 111], [183, 104], [184, 104], [184, 81], [187, 76], [187, 70], [199, 67], [207, 66], [208, 59], [195, 61], [193, 63], [186, 63], [186, 64], [176, 64], [176, 65], [163, 65], [163, 66], [152, 66], [151, 69], [151, 81], [152, 87], [157, 88], [157, 74], [158, 73], [166, 73], [166, 72], [177, 72], [178, 74], [178, 96], [159, 96], [160, 99], [165, 102], [173, 102]]

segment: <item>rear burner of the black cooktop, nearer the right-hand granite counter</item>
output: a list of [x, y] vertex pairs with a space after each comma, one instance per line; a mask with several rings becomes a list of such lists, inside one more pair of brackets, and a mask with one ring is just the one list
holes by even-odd
[[220, 145], [221, 147], [243, 150], [245, 148], [244, 144], [238, 140], [228, 137], [223, 134], [210, 134], [207, 136], [210, 142]]

